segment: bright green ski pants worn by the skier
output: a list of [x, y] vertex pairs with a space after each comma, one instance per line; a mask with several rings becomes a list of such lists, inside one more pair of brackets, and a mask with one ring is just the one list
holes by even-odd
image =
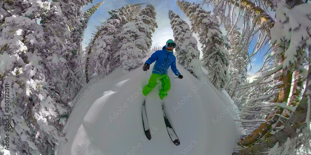
[[161, 90], [159, 96], [163, 100], [167, 96], [167, 92], [171, 89], [171, 83], [167, 74], [161, 75], [152, 73], [148, 84], [142, 89], [142, 93], [146, 96], [159, 82], [161, 82]]

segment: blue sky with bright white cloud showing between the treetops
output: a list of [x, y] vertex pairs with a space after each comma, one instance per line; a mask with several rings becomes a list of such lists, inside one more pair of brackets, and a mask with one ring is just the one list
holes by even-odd
[[[82, 8], [82, 11], [86, 11], [89, 9], [92, 5], [95, 5], [96, 3], [102, 2], [102, 0], [94, 0], [93, 3], [88, 4], [84, 8]], [[135, 3], [146, 3], [148, 1], [143, 0], [114, 0], [114, 1], [105, 1], [104, 4], [92, 15], [91, 19], [88, 22], [87, 28], [84, 33], [83, 38], [83, 48], [87, 46], [87, 44], [92, 39], [92, 33], [95, 33], [96, 31], [95, 26], [99, 26], [100, 22], [104, 22], [109, 18], [108, 11], [112, 9], [119, 9], [120, 7], [123, 7], [127, 4], [135, 4]], [[195, 3], [202, 3], [198, 0], [188, 0], [188, 2], [195, 2]], [[155, 7], [156, 10], [156, 22], [158, 24], [158, 28], [156, 31], [152, 34], [152, 47], [154, 46], [162, 46], [165, 45], [165, 42], [168, 39], [173, 39], [173, 30], [171, 29], [171, 25], [169, 24], [169, 18], [168, 13], [169, 10], [172, 10], [175, 14], [179, 15], [181, 19], [185, 20], [190, 25], [190, 20], [188, 17], [179, 9], [179, 7], [176, 5], [176, 0], [156, 0], [156, 1], [150, 1], [150, 4], [152, 4]], [[146, 7], [146, 5], [142, 6], [143, 8]], [[201, 6], [202, 7], [202, 6]], [[212, 6], [203, 6], [204, 10], [212, 11]], [[224, 29], [221, 29], [224, 34]], [[198, 41], [196, 34], [193, 34], [193, 36], [197, 39], [198, 42], [198, 49], [201, 51], [201, 44]], [[251, 45], [249, 46], [249, 52], [253, 51], [253, 47], [255, 45], [255, 42], [257, 39], [254, 39]], [[200, 54], [202, 56], [202, 53]], [[255, 55], [254, 59], [252, 60], [252, 69], [248, 72], [249, 75], [253, 75], [258, 69], [260, 69], [262, 65], [262, 55], [260, 52]], [[248, 66], [248, 70], [250, 67]]]

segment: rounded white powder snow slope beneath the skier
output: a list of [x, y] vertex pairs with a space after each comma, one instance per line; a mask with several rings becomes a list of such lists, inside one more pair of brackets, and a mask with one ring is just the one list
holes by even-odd
[[[239, 132], [234, 112], [226, 113], [226, 109], [234, 106], [224, 92], [217, 91], [210, 82], [200, 82], [180, 64], [177, 69], [184, 78], [175, 78], [169, 69], [171, 90], [165, 99], [166, 115], [180, 145], [173, 144], [165, 127], [158, 95], [160, 83], [146, 98], [153, 131], [151, 140], [145, 137], [139, 87], [148, 83], [152, 67], [144, 72], [140, 66], [125, 74], [116, 69], [84, 86], [64, 129], [68, 142], [58, 144], [57, 155], [231, 154]], [[187, 95], [191, 96], [188, 100]], [[180, 102], [183, 104], [178, 105]]]

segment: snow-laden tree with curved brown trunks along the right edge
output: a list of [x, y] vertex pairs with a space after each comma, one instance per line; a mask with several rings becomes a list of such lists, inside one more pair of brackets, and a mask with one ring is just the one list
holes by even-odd
[[[273, 68], [272, 72], [264, 74], [264, 76], [255, 81], [255, 83], [258, 83], [264, 80], [266, 77], [271, 76], [273, 73], [276, 73], [277, 76], [275, 77], [278, 78], [278, 82], [274, 82], [274, 85], [277, 85], [276, 88], [279, 92], [276, 95], [277, 97], [275, 100], [268, 104], [286, 105], [287, 103], [288, 106], [286, 108], [293, 110], [293, 112], [291, 112], [292, 115], [289, 117], [289, 115], [286, 113], [286, 110], [281, 108], [283, 105], [278, 106], [278, 108], [273, 109], [272, 113], [267, 115], [267, 121], [259, 125], [252, 134], [240, 141], [241, 145], [248, 146], [249, 144], [253, 144], [253, 142], [256, 141], [255, 150], [264, 151], [264, 149], [266, 149], [265, 146], [271, 147], [278, 143], [281, 150], [282, 148], [286, 147], [284, 146], [286, 139], [290, 138], [290, 143], [295, 142], [295, 139], [299, 134], [305, 134], [301, 133], [300, 131], [305, 131], [305, 129], [310, 130], [309, 118], [306, 117], [309, 116], [307, 112], [307, 103], [310, 103], [310, 98], [307, 97], [309, 95], [307, 91], [310, 89], [310, 84], [308, 85], [310, 80], [310, 68], [309, 72], [307, 73], [307, 84], [304, 92], [303, 88], [300, 86], [294, 86], [292, 89], [292, 92], [299, 92], [297, 94], [300, 94], [302, 98], [300, 99], [300, 97], [292, 94], [299, 101], [292, 100], [288, 103], [288, 100], [290, 99], [292, 75], [294, 72], [297, 74], [306, 73], [305, 69], [302, 67], [303, 65], [301, 64], [304, 64], [304, 61], [309, 59], [304, 50], [311, 44], [311, 38], [309, 35], [307, 35], [308, 33], [310, 34], [310, 29], [307, 25], [310, 25], [311, 23], [310, 18], [308, 18], [310, 15], [310, 10], [307, 9], [308, 7], [310, 7], [310, 4], [304, 3], [299, 5], [299, 3], [291, 2], [286, 3], [283, 7], [276, 7], [276, 22], [270, 31], [272, 42], [271, 47], [273, 50], [272, 52], [267, 53], [267, 55], [271, 56], [275, 61], [275, 67]], [[294, 83], [298, 84], [299, 81], [301, 81], [303, 78], [301, 80], [300, 78], [294, 79]], [[295, 103], [291, 102], [299, 104], [296, 108], [291, 108], [293, 105], [295, 105]], [[271, 134], [271, 131], [274, 134]], [[266, 140], [261, 140], [258, 142], [258, 139]], [[269, 143], [266, 143], [266, 141]], [[307, 145], [309, 145], [309, 142]], [[241, 150], [240, 154], [251, 153], [253, 150], [253, 147], [248, 147]]]

